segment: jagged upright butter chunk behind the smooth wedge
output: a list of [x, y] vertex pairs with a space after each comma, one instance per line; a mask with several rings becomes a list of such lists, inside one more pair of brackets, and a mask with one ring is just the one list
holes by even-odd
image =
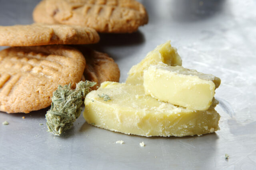
[[177, 53], [177, 49], [172, 47], [170, 41], [158, 45], [153, 51], [150, 51], [146, 57], [138, 64], [132, 66], [128, 72], [126, 83], [143, 84], [143, 71], [150, 65], [167, 64], [170, 66], [181, 66], [182, 60]]

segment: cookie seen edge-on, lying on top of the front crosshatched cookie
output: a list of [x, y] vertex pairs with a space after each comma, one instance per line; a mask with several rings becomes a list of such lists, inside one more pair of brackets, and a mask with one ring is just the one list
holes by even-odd
[[100, 40], [98, 33], [88, 27], [74, 25], [0, 26], [0, 45], [37, 46], [51, 44], [91, 44]]

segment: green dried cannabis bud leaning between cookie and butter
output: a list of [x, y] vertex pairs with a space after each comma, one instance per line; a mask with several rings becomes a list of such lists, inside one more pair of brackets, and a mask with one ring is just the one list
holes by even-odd
[[82, 111], [82, 100], [95, 84], [96, 82], [81, 81], [74, 90], [71, 89], [71, 84], [58, 86], [52, 96], [52, 106], [45, 115], [49, 132], [59, 136], [73, 126]]

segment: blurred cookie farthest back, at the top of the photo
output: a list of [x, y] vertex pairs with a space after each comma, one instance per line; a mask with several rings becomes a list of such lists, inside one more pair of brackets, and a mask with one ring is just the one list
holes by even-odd
[[131, 33], [148, 23], [144, 6], [136, 0], [43, 0], [33, 18], [35, 22], [83, 25], [101, 33]]

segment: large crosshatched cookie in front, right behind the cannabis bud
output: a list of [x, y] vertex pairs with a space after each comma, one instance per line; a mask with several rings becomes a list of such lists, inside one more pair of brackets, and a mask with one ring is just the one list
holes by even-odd
[[29, 113], [50, 106], [59, 84], [76, 87], [85, 63], [80, 51], [64, 45], [0, 51], [0, 111]]

